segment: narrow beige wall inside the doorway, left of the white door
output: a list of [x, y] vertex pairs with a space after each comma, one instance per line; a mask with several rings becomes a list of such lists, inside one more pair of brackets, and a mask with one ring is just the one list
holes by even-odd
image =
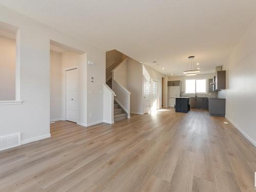
[[62, 119], [61, 53], [50, 52], [50, 121]]

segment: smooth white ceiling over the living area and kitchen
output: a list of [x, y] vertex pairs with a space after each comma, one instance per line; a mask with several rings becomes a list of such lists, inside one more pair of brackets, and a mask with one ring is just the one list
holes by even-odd
[[0, 0], [0, 4], [98, 48], [119, 50], [166, 75], [182, 74], [190, 55], [196, 56], [202, 73], [214, 72], [256, 16], [255, 0]]

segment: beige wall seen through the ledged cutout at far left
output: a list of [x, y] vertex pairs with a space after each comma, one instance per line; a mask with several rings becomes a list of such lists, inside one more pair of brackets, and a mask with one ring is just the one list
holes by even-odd
[[0, 100], [15, 100], [16, 44], [0, 36]]

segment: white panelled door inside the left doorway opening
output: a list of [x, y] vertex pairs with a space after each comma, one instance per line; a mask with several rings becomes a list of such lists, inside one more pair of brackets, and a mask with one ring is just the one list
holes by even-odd
[[66, 71], [66, 120], [77, 122], [78, 73], [77, 69]]

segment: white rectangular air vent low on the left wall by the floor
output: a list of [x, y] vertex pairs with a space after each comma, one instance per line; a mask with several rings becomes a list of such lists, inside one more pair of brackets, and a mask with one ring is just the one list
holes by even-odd
[[20, 145], [20, 133], [0, 136], [0, 151]]

